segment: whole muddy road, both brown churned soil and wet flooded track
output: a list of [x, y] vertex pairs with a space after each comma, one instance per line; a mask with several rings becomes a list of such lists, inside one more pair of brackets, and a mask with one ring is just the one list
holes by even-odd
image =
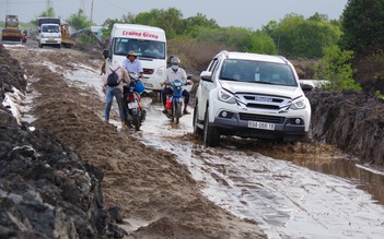
[[206, 148], [191, 116], [171, 123], [151, 97], [142, 130], [121, 132], [103, 122], [100, 56], [8, 49], [31, 84], [23, 119], [104, 170], [127, 238], [383, 238], [383, 174], [333, 146], [228, 138]]

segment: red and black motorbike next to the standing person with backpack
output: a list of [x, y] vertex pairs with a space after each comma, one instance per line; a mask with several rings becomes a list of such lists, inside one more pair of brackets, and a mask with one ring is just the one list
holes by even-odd
[[146, 121], [147, 110], [140, 103], [140, 95], [144, 92], [144, 84], [139, 80], [136, 73], [129, 73], [130, 83], [124, 84], [124, 109], [126, 115], [126, 124], [140, 130], [142, 122]]

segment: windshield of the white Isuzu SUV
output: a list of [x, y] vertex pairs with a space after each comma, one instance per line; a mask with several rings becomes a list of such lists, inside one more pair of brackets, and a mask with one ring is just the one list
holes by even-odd
[[220, 80], [298, 86], [288, 64], [253, 60], [224, 60]]

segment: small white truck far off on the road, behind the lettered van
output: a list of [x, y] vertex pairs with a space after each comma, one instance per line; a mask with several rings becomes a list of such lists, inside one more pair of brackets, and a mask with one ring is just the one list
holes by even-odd
[[39, 26], [39, 32], [37, 34], [37, 43], [38, 47], [43, 48], [43, 46], [54, 46], [61, 47], [61, 33], [60, 25], [46, 23]]

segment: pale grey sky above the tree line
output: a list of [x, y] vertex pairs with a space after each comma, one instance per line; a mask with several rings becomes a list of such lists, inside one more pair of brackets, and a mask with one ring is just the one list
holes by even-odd
[[[21, 22], [30, 22], [46, 10], [48, 0], [0, 0], [0, 20], [5, 14], [19, 15]], [[260, 29], [269, 21], [282, 20], [289, 13], [304, 17], [316, 12], [338, 20], [348, 0], [50, 0], [58, 16], [67, 20], [83, 9], [97, 25], [106, 19], [120, 19], [124, 14], [147, 12], [152, 9], [176, 8], [183, 17], [202, 13], [220, 26], [240, 26]], [[93, 8], [92, 8], [93, 7]]]

